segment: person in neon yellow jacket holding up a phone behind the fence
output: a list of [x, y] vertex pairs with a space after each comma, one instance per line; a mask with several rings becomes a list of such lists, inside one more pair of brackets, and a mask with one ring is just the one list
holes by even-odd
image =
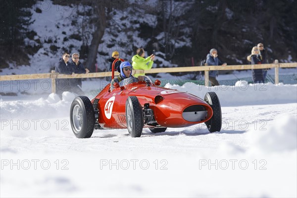
[[133, 76], [144, 76], [145, 70], [149, 70], [152, 67], [155, 55], [151, 54], [147, 58], [145, 58], [145, 50], [143, 48], [139, 48], [136, 51], [136, 55], [132, 57], [132, 67], [133, 67]]

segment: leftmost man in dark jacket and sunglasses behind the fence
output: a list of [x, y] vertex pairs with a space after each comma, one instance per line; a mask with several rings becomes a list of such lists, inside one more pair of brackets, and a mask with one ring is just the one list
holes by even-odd
[[[54, 71], [60, 74], [71, 75], [73, 73], [73, 65], [69, 62], [70, 53], [65, 51], [62, 55], [62, 59], [56, 63]], [[69, 79], [56, 79], [56, 94], [62, 99], [62, 93], [70, 91]]]

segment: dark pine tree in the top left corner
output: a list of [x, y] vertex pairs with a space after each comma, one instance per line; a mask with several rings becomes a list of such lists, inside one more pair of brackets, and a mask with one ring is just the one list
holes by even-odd
[[8, 62], [28, 64], [26, 33], [32, 23], [30, 8], [35, 0], [1, 0], [0, 3], [0, 68], [8, 67]]

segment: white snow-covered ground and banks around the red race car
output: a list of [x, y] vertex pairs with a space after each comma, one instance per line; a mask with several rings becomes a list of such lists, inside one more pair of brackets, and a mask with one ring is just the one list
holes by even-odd
[[[100, 86], [83, 87], [92, 84]], [[297, 85], [166, 87], [216, 92], [222, 130], [144, 129], [141, 138], [97, 130], [77, 139], [74, 95], [1, 96], [0, 197], [297, 197]]]

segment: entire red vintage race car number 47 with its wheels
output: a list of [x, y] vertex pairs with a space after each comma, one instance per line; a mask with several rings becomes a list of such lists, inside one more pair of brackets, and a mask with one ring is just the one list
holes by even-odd
[[[114, 64], [112, 78], [114, 77]], [[214, 92], [204, 100], [178, 90], [159, 87], [161, 82], [143, 81], [133, 76], [108, 84], [96, 97], [76, 97], [70, 108], [70, 123], [77, 138], [90, 138], [94, 129], [128, 129], [131, 137], [140, 137], [143, 128], [152, 133], [164, 132], [167, 127], [188, 127], [205, 123], [209, 132], [220, 131], [222, 113]]]

